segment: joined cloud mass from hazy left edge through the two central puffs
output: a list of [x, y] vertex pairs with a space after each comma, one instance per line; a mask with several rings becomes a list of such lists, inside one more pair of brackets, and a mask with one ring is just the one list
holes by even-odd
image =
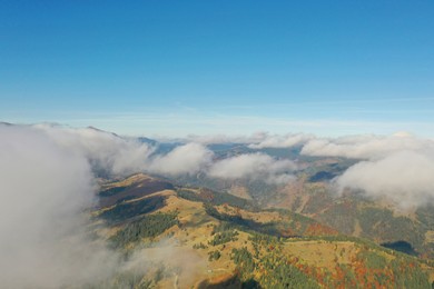
[[[199, 143], [166, 155], [135, 139], [93, 128], [0, 124], [0, 280], [6, 288], [95, 283], [122, 267], [118, 256], [88, 237], [95, 175], [137, 171], [167, 176], [292, 180], [295, 165], [262, 153], [215, 160]], [[135, 260], [137, 261], [137, 260]], [[119, 269], [120, 268], [120, 269]]]

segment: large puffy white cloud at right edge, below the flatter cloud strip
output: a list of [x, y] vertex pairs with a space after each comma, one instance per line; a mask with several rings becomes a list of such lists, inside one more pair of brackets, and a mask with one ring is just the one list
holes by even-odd
[[339, 190], [362, 189], [372, 197], [387, 197], [401, 207], [434, 200], [434, 157], [414, 151], [393, 152], [375, 161], [362, 161], [335, 180]]

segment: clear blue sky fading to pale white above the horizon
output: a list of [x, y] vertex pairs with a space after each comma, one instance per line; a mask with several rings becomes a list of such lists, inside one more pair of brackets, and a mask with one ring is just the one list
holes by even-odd
[[0, 120], [434, 137], [434, 2], [0, 0]]

